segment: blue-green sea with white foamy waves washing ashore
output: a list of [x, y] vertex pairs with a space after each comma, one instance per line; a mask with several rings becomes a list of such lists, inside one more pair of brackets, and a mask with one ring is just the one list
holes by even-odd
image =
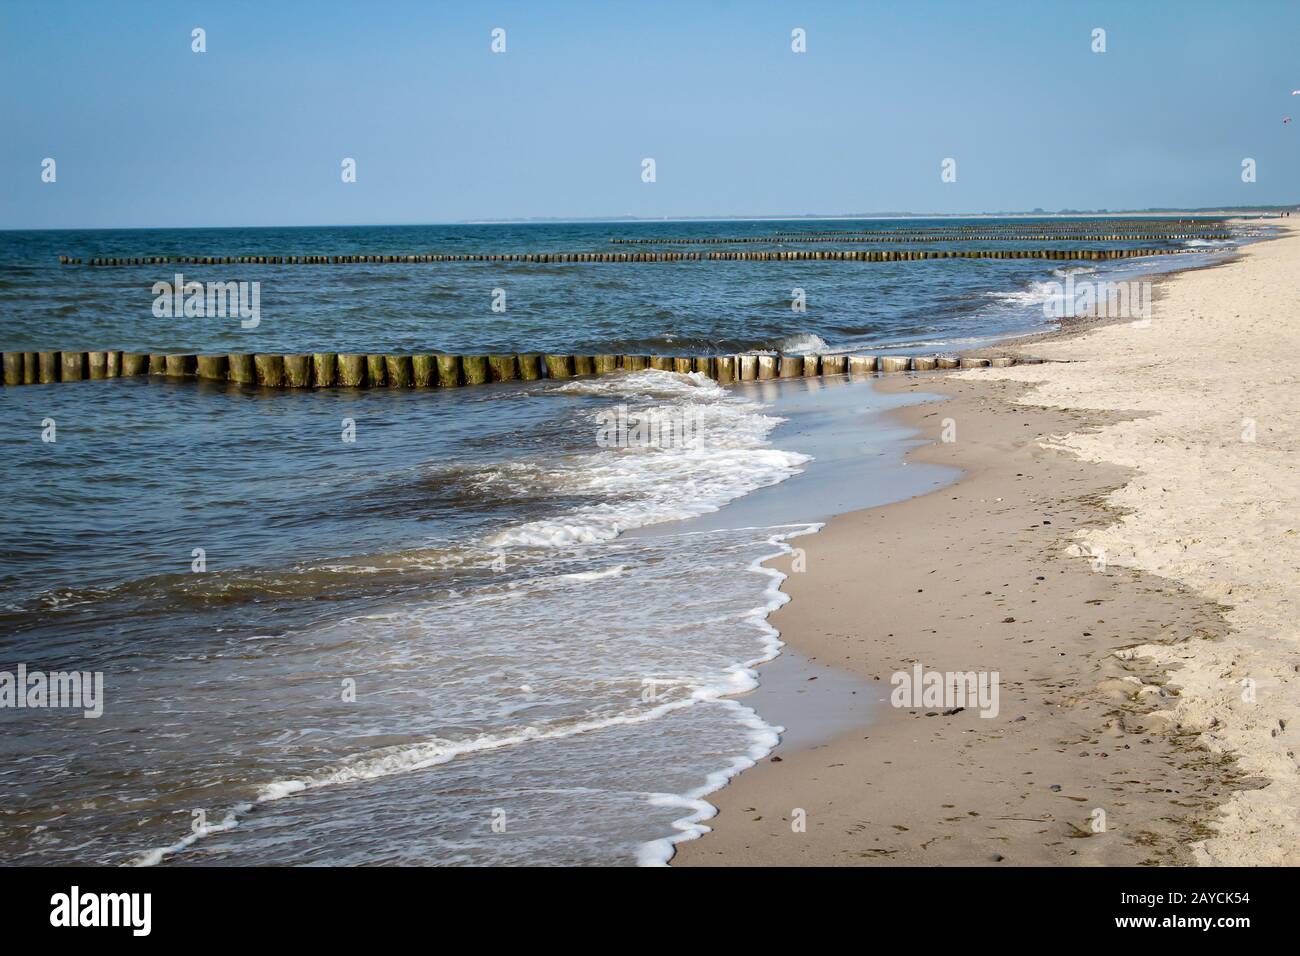
[[[942, 352], [1053, 328], [1067, 276], [1212, 264], [1257, 234], [996, 243], [1188, 250], [1115, 263], [58, 264], [753, 251], [801, 232], [832, 239], [798, 248], [870, 248], [833, 234], [962, 225], [1013, 221], [0, 232], [0, 345]], [[260, 321], [156, 315], [177, 273], [259, 282]], [[0, 864], [668, 862], [707, 827], [708, 793], [786, 731], [746, 702], [781, 648], [764, 559], [950, 480], [904, 464], [916, 440], [888, 418], [904, 401], [870, 377], [659, 371], [0, 389], [0, 682], [103, 676], [98, 717], [0, 706]]]

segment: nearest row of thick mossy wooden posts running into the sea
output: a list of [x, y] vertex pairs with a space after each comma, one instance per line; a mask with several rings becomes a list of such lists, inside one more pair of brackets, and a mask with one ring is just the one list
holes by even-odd
[[459, 388], [493, 381], [575, 378], [647, 368], [701, 372], [719, 384], [766, 381], [820, 375], [927, 372], [942, 368], [1005, 367], [1040, 359], [1001, 355], [368, 355], [368, 354], [248, 354], [166, 352], [4, 352], [5, 385], [159, 376], [263, 385], [266, 388]]

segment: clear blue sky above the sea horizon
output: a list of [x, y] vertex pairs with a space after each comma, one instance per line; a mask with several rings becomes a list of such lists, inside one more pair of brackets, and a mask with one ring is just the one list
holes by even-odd
[[1297, 53], [1296, 0], [0, 0], [0, 228], [1295, 203]]

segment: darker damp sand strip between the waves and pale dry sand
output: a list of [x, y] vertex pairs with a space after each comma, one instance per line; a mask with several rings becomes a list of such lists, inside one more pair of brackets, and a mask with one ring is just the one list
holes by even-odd
[[[1148, 337], [1180, 333], [1188, 276], [1209, 276], [1197, 284], [1213, 287], [1242, 271], [1284, 268], [1277, 254], [1261, 265], [1258, 250], [1294, 237], [1288, 228], [1222, 263], [1157, 277]], [[1266, 852], [1228, 843], [1258, 835], [1231, 823], [1244, 818], [1242, 795], [1262, 792], [1247, 777], [1260, 761], [1243, 763], [1226, 741], [1202, 739], [1216, 724], [1187, 719], [1199, 701], [1180, 687], [1183, 672], [1169, 672], [1173, 658], [1195, 663], [1193, 637], [1232, 643], [1228, 609], [1153, 562], [1112, 553], [1097, 571], [1078, 558], [1079, 541], [1141, 516], [1124, 492], [1143, 476], [1123, 462], [1053, 449], [1062, 436], [1069, 447], [1154, 416], [1140, 402], [1072, 403], [1060, 389], [1050, 403], [1036, 401], [1062, 363], [1079, 376], [1096, 362], [1092, 352], [1106, 354], [1095, 337], [1131, 337], [1132, 328], [1084, 320], [1037, 336], [1045, 358], [1061, 360], [1046, 365], [878, 380], [888, 392], [946, 397], [890, 416], [931, 442], [907, 460], [963, 475], [919, 498], [831, 519], [807, 538], [805, 574], [789, 574], [788, 557], [774, 561], [788, 575], [790, 601], [770, 620], [803, 658], [859, 678], [888, 682], [915, 663], [996, 670], [1001, 711], [984, 719], [885, 705], [878, 723], [829, 743], [798, 748], [783, 739], [710, 796], [711, 832], [677, 844], [673, 865], [1190, 864]], [[1195, 356], [1170, 356], [1169, 365], [1192, 368]], [[954, 420], [956, 442], [935, 441], [944, 419]], [[1258, 810], [1277, 801], [1245, 803]], [[1273, 806], [1273, 817], [1287, 805]], [[796, 808], [806, 832], [792, 830]], [[1273, 817], [1266, 832], [1277, 843], [1284, 823]], [[1269, 838], [1253, 840], [1261, 842]]]

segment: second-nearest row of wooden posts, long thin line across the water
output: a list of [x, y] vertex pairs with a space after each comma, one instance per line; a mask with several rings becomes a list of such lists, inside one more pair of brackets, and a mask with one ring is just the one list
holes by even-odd
[[[90, 259], [87, 265], [339, 265], [354, 263], [680, 263], [680, 261], [809, 261], [898, 263], [918, 259], [1135, 259], [1176, 255], [1183, 248], [898, 248], [898, 250], [772, 250], [766, 252], [517, 252], [462, 255], [328, 255], [328, 256], [136, 256]], [[58, 256], [64, 265], [81, 265]]]

